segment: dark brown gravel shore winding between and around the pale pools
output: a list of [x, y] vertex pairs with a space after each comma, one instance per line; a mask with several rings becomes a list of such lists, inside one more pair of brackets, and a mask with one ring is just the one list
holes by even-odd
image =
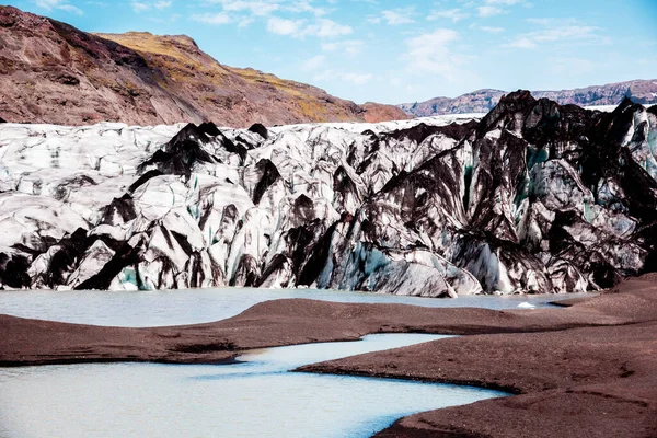
[[243, 350], [369, 333], [466, 335], [302, 371], [468, 383], [518, 395], [403, 418], [382, 437], [657, 437], [657, 275], [565, 309], [492, 311], [268, 301], [157, 328], [0, 315], [0, 366], [229, 361]]

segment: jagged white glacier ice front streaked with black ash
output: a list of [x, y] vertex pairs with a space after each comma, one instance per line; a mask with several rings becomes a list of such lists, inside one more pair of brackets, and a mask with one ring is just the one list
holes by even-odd
[[[452, 123], [454, 122], [456, 123]], [[657, 269], [657, 107], [0, 126], [8, 288], [573, 292]]]

